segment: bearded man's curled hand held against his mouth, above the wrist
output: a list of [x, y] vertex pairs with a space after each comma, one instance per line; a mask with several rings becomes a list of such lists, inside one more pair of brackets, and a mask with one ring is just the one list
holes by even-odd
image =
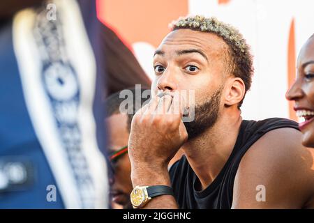
[[135, 114], [128, 141], [134, 167], [167, 168], [188, 138], [181, 121], [183, 104], [179, 93], [167, 93], [153, 98]]

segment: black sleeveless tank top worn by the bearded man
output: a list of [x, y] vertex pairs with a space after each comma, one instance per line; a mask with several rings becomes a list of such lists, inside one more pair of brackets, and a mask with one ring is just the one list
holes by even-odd
[[239, 135], [233, 151], [214, 181], [202, 191], [197, 191], [195, 185], [200, 185], [188, 160], [183, 156], [170, 169], [170, 179], [174, 196], [179, 208], [214, 208], [227, 209], [232, 206], [234, 177], [242, 157], [248, 149], [265, 133], [277, 128], [294, 128], [298, 124], [285, 118], [269, 118], [262, 121], [242, 121]]

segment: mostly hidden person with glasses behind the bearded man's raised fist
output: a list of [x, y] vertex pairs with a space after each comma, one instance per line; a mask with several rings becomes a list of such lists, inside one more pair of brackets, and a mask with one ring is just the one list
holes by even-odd
[[[128, 137], [135, 112], [149, 102], [150, 95], [148, 89], [126, 89], [110, 95], [105, 102], [107, 107], [105, 123], [108, 128], [108, 143], [110, 145], [108, 155], [114, 171], [113, 178], [110, 179], [110, 194], [113, 201], [112, 207], [114, 208], [133, 208], [130, 203], [130, 192], [133, 190], [133, 185], [130, 179], [130, 160], [127, 155]], [[139, 107], [136, 107], [136, 105]], [[120, 111], [121, 108], [125, 110]], [[168, 167], [171, 167], [175, 161], [179, 160], [181, 155], [182, 152], [179, 150]]]

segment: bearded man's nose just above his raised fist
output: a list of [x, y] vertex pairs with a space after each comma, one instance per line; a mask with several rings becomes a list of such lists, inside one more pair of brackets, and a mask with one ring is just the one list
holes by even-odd
[[173, 68], [167, 68], [163, 75], [158, 79], [158, 90], [162, 91], [176, 91], [178, 86], [177, 74]]

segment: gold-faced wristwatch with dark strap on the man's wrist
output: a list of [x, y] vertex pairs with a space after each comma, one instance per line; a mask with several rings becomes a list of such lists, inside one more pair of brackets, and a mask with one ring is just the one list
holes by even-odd
[[130, 201], [133, 208], [144, 207], [149, 200], [153, 197], [157, 197], [164, 194], [170, 194], [174, 196], [172, 187], [157, 185], [157, 186], [136, 186], [130, 193]]

